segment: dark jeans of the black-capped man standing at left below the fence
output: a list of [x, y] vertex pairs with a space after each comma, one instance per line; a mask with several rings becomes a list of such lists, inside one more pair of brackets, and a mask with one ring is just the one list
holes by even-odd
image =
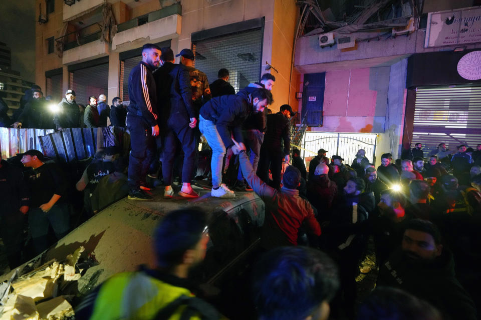
[[42, 211], [41, 208], [30, 209], [29, 224], [35, 251], [41, 253], [49, 247], [49, 225], [52, 225], [58, 240], [69, 233], [70, 212], [68, 204], [55, 203], [48, 212]]

